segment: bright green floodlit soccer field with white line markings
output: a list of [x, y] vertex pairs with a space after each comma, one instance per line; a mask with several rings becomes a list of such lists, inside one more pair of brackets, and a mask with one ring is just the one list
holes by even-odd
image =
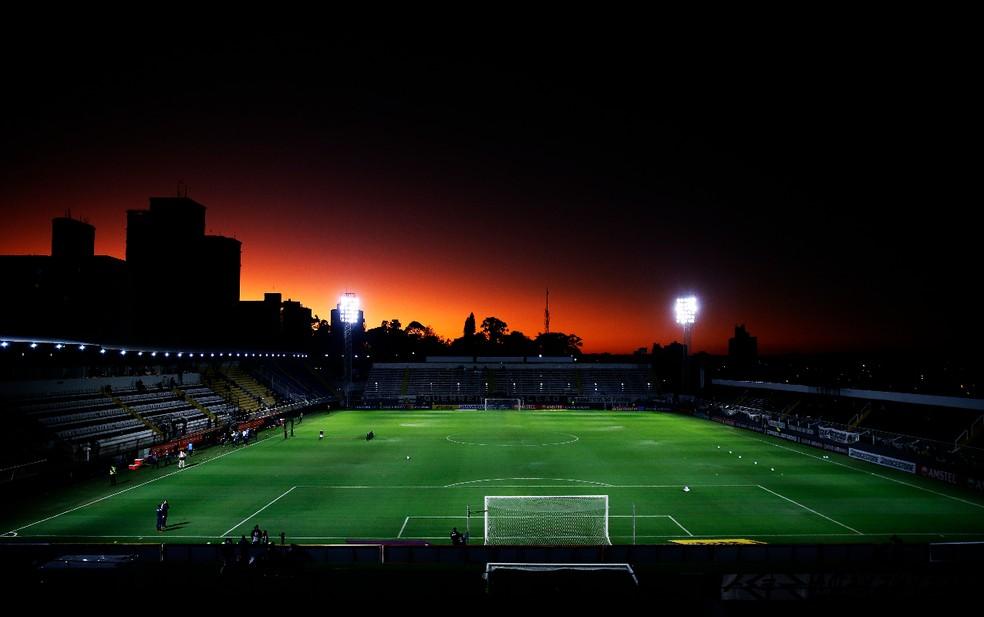
[[[5, 503], [0, 532], [5, 541], [204, 543], [259, 525], [296, 543], [449, 543], [452, 527], [466, 527], [466, 508], [481, 510], [486, 496], [607, 495], [615, 544], [984, 537], [984, 498], [824, 457], [671, 414], [319, 413], [295, 425], [293, 438], [268, 430], [246, 447], [199, 452], [185, 470], [124, 469], [115, 487], [93, 480]], [[165, 498], [169, 526], [157, 532], [155, 508]], [[482, 543], [482, 515], [470, 527], [471, 542]]]

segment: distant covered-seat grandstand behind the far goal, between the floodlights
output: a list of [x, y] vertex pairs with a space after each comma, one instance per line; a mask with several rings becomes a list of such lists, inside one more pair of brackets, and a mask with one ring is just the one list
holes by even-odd
[[577, 364], [571, 358], [431, 358], [376, 363], [366, 380], [366, 403], [479, 403], [519, 398], [527, 403], [595, 405], [637, 403], [657, 394], [650, 367]]

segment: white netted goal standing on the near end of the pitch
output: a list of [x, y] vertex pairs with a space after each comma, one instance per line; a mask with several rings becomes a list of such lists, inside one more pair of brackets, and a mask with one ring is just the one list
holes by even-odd
[[608, 495], [486, 496], [486, 544], [611, 544]]

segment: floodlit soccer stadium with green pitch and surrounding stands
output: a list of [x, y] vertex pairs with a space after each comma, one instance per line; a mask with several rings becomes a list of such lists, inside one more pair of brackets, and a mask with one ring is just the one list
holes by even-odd
[[[766, 594], [797, 597], [847, 563], [891, 587], [899, 559], [945, 572], [950, 583], [936, 584], [949, 588], [947, 564], [976, 559], [966, 552], [984, 535], [976, 448], [874, 428], [923, 408], [954, 434], [981, 413], [966, 399], [895, 395], [873, 413], [857, 393], [733, 380], [680, 396], [656, 391], [652, 366], [571, 357], [381, 362], [349, 390], [344, 370], [326, 379], [303, 353], [13, 340], [3, 353], [8, 374], [50, 370], [64, 354], [64, 374], [107, 375], [4, 383], [17, 430], [4, 447], [0, 550], [36, 564], [18, 570], [28, 583], [42, 563], [45, 580], [65, 577], [66, 554], [164, 554], [215, 576], [244, 567], [245, 550], [262, 565], [235, 576], [344, 580], [369, 562], [416, 592], [435, 569], [467, 581], [463, 593], [540, 588], [517, 573], [561, 580], [512, 565], [481, 583], [489, 564], [564, 563], [567, 586], [665, 594], [668, 563], [720, 578], [724, 560], [736, 577], [727, 593], [748, 597], [766, 594], [749, 583], [763, 561], [817, 570]], [[163, 500], [169, 519], [155, 529]], [[254, 529], [270, 543], [254, 545]], [[308, 561], [284, 574], [298, 551]], [[599, 564], [632, 574], [585, 582]]]

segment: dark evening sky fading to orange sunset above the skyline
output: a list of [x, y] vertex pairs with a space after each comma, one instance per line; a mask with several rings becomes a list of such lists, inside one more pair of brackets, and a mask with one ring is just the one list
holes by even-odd
[[765, 352], [979, 346], [969, 43], [787, 26], [23, 32], [0, 252], [71, 209], [122, 257], [180, 181], [243, 241], [244, 299], [322, 316], [349, 289], [370, 325], [533, 335], [549, 285], [586, 351], [678, 337], [683, 292], [712, 352], [735, 323]]

